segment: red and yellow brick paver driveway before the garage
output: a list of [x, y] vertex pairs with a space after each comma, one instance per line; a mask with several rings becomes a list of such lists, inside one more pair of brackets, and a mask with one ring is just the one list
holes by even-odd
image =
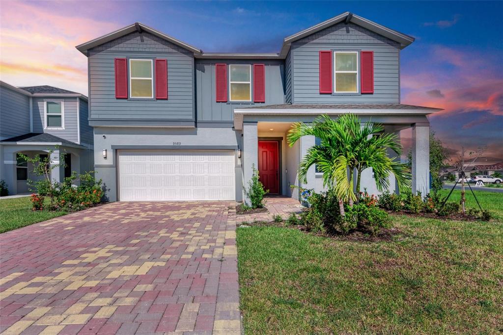
[[115, 202], [0, 235], [0, 331], [238, 334], [232, 202]]

